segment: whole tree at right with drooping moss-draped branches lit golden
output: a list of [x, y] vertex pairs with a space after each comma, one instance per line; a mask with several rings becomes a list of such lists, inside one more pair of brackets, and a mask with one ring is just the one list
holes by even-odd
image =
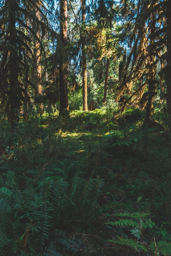
[[[125, 37], [129, 38], [127, 42], [130, 47], [130, 53], [122, 71], [123, 79], [121, 85], [117, 87], [117, 96], [118, 98], [121, 97], [124, 92], [130, 94], [129, 98], [121, 103], [122, 111], [130, 102], [135, 105], [140, 103], [143, 108], [146, 106], [145, 122], [148, 122], [152, 116], [152, 101], [157, 94], [156, 84], [160, 83], [160, 81], [155, 80], [157, 64], [162, 63], [161, 60], [165, 53], [163, 34], [165, 29], [161, 28], [163, 24], [159, 19], [164, 5], [164, 1], [159, 3], [158, 1], [151, 1], [150, 3], [149, 1], [138, 1], [136, 13], [134, 12], [132, 17], [127, 17], [127, 23], [125, 24], [128, 30]], [[133, 11], [130, 13], [133, 13]], [[156, 18], [157, 15], [158, 18]], [[157, 29], [159, 24], [160, 27]], [[125, 25], [123, 26], [124, 29]], [[144, 77], [146, 78], [144, 79]], [[139, 87], [133, 87], [138, 80], [141, 81]], [[144, 93], [147, 85], [148, 91]]]

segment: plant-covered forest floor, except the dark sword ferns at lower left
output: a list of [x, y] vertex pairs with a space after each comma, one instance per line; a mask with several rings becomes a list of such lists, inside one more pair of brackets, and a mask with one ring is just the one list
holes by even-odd
[[[156, 106], [155, 119], [148, 125], [143, 123], [144, 115], [145, 112], [138, 108], [128, 109], [118, 118], [114, 118], [115, 113], [111, 109], [105, 108], [89, 112], [71, 111], [68, 119], [58, 118], [57, 112], [42, 116], [32, 113], [26, 122], [21, 119], [13, 133], [5, 117], [2, 118], [0, 194], [4, 189], [24, 194], [28, 187], [33, 187], [35, 191], [40, 190], [44, 202], [46, 193], [42, 191], [46, 190], [47, 184], [56, 186], [53, 184], [62, 182], [62, 179], [69, 186], [63, 200], [69, 200], [71, 204], [67, 203], [67, 209], [61, 208], [60, 213], [56, 210], [54, 214], [60, 216], [58, 223], [54, 224], [53, 220], [47, 224], [55, 225], [49, 230], [49, 239], [54, 230], [64, 232], [63, 237], [71, 240], [77, 235], [78, 244], [79, 239], [81, 244], [84, 243], [84, 246], [80, 245], [83, 249], [74, 252], [77, 255], [113, 255], [113, 250], [115, 255], [125, 256], [171, 255], [170, 132], [164, 109]], [[77, 179], [78, 184], [73, 187], [72, 183]], [[90, 187], [89, 194], [84, 186]], [[93, 190], [94, 186], [99, 190]], [[76, 190], [78, 194], [74, 194]], [[52, 196], [53, 192], [49, 191], [47, 193]], [[69, 196], [72, 193], [74, 198]], [[79, 201], [83, 194], [84, 199]], [[93, 195], [94, 199], [91, 199]], [[75, 199], [77, 197], [78, 200]], [[50, 199], [48, 201], [53, 205]], [[64, 204], [61, 202], [60, 207]], [[6, 208], [5, 211], [8, 212]], [[19, 213], [21, 210], [16, 211]], [[86, 218], [90, 224], [85, 224]], [[11, 221], [15, 226], [16, 220]], [[74, 223], [69, 224], [72, 221]], [[28, 227], [28, 223], [29, 218], [23, 225]], [[26, 251], [19, 236], [22, 236], [20, 231], [14, 235], [11, 251], [4, 255], [13, 255], [10, 253], [14, 250], [15, 255], [21, 255], [21, 250]], [[32, 243], [31, 237], [29, 243]], [[60, 247], [60, 255], [73, 255], [72, 246], [67, 247], [66, 241], [62, 245], [59, 241], [56, 243]], [[47, 254], [42, 252], [45, 245]], [[50, 246], [43, 242], [41, 249], [34, 249], [37, 254], [33, 255], [51, 255], [48, 254], [52, 250]]]

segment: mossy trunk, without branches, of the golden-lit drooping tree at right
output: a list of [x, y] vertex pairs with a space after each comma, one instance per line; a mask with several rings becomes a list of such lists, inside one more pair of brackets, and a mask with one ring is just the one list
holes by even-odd
[[[156, 30], [155, 28], [155, 12], [152, 13], [152, 17], [151, 17], [151, 34], [154, 33]], [[154, 38], [151, 37], [150, 38], [150, 47], [155, 43]], [[152, 113], [154, 111], [152, 102], [155, 98], [155, 96], [157, 95], [156, 92], [156, 85], [154, 82], [155, 76], [156, 76], [156, 71], [157, 71], [157, 63], [155, 63], [155, 57], [154, 55], [151, 53], [149, 56], [149, 61], [148, 61], [148, 91], [149, 91], [149, 97], [148, 97], [148, 102], [147, 102], [147, 106], [146, 106], [146, 113], [145, 113], [145, 123], [148, 123], [149, 119], [152, 116]]]

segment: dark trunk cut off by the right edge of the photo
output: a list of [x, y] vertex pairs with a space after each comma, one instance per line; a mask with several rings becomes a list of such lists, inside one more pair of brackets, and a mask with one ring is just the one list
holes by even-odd
[[167, 66], [166, 66], [166, 102], [167, 102], [167, 113], [171, 121], [171, 0], [168, 2], [167, 7], [168, 17], [167, 17]]

